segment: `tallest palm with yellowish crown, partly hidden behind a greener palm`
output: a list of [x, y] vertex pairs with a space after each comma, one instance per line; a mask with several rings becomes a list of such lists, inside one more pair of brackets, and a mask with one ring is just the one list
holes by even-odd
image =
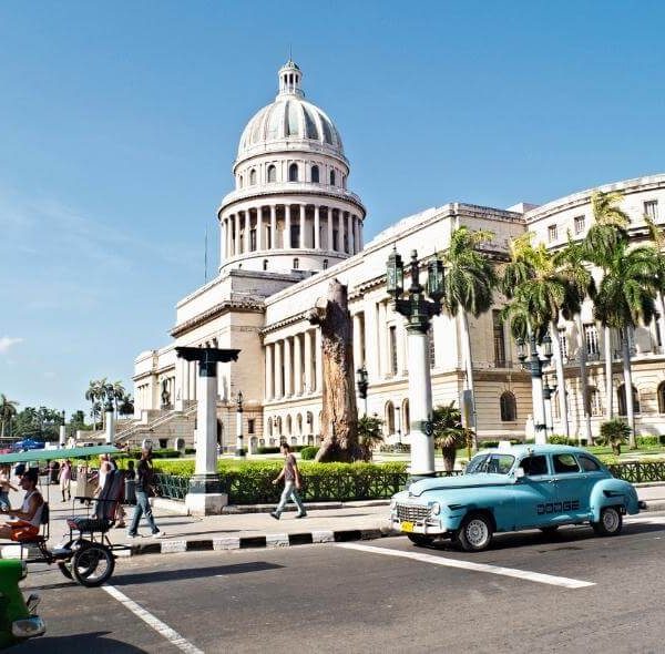
[[[627, 241], [626, 227], [631, 222], [628, 215], [617, 206], [623, 198], [620, 192], [603, 193], [595, 191], [591, 194], [591, 208], [594, 224], [590, 227], [584, 239], [585, 257], [597, 265], [605, 274], [604, 262], [620, 241]], [[603, 340], [605, 341], [605, 395], [606, 416], [612, 420], [614, 415], [614, 388], [612, 385], [612, 328], [605, 326]]]

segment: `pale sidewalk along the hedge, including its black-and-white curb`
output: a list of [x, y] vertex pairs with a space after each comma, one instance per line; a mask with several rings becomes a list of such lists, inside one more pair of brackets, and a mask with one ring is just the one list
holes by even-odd
[[[60, 501], [60, 489], [51, 486], [43, 489], [50, 495], [51, 538], [54, 546], [69, 537], [65, 519], [73, 514], [72, 502]], [[665, 511], [665, 482], [637, 486], [637, 494], [647, 503], [647, 511]], [[12, 504], [19, 503], [19, 494], [12, 493]], [[289, 545], [369, 540], [391, 535], [388, 527], [388, 500], [369, 502], [332, 503], [335, 508], [321, 508], [326, 504], [306, 504], [307, 518], [296, 519], [293, 507], [275, 520], [269, 512], [256, 512], [256, 507], [237, 507], [238, 513], [195, 518], [176, 514], [157, 507], [154, 508], [155, 521], [166, 537], [155, 540], [150, 537], [142, 523], [139, 532], [142, 537], [126, 538], [126, 529], [112, 529], [109, 538], [114, 544], [126, 544], [127, 555], [185, 552], [188, 550], [238, 550], [245, 548], [282, 548]], [[170, 505], [175, 502], [168, 502]], [[267, 508], [266, 508], [267, 509]], [[125, 508], [127, 521], [133, 507]], [[84, 514], [85, 508], [79, 503], [74, 512]]]

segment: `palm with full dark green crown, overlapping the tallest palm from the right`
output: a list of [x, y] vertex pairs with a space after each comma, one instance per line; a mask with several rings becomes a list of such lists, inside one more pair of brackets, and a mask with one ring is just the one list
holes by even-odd
[[628, 241], [622, 238], [604, 256], [602, 266], [605, 274], [595, 297], [594, 314], [604, 327], [618, 329], [622, 334], [625, 406], [631, 447], [634, 448], [635, 415], [628, 331], [640, 323], [648, 325], [655, 316], [658, 253], [654, 247], [644, 245], [630, 249]]

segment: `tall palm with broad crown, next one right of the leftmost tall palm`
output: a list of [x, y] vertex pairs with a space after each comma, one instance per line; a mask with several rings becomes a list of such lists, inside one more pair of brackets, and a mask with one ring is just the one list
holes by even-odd
[[584, 288], [579, 276], [580, 270], [566, 262], [563, 253], [550, 253], [542, 243], [533, 246], [528, 235], [513, 243], [502, 279], [503, 293], [521, 305], [531, 321], [539, 328], [550, 328], [560, 389], [559, 408], [566, 438], [570, 438], [570, 426], [557, 323], [560, 315], [567, 320], [581, 310]]

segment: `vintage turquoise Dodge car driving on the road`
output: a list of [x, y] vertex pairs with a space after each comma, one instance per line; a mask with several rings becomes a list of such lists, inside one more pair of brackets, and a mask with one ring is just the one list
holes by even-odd
[[616, 535], [623, 515], [644, 508], [633, 486], [583, 449], [512, 446], [477, 454], [459, 477], [411, 483], [392, 498], [390, 522], [417, 545], [451, 539], [477, 552], [500, 531], [589, 523]]

